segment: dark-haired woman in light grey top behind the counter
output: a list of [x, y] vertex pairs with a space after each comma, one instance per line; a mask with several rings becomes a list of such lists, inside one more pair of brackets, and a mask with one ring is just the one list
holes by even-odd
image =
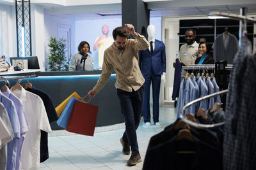
[[90, 45], [82, 41], [78, 46], [79, 53], [74, 54], [70, 60], [69, 71], [92, 71], [93, 58], [87, 53], [90, 52]]

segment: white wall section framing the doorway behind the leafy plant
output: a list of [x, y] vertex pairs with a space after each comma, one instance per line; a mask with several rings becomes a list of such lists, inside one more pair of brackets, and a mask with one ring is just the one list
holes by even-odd
[[71, 45], [71, 53], [74, 54], [76, 53], [76, 44], [75, 44], [75, 37], [76, 37], [76, 32], [75, 32], [75, 21], [67, 18], [61, 18], [61, 17], [54, 17], [52, 15], [44, 15], [44, 46], [45, 46], [45, 64], [47, 64], [47, 59], [48, 59], [48, 53], [49, 53], [49, 39], [50, 37], [58, 37], [58, 27], [60, 25], [64, 25], [67, 27], [71, 27], [71, 32], [70, 32], [70, 45]]

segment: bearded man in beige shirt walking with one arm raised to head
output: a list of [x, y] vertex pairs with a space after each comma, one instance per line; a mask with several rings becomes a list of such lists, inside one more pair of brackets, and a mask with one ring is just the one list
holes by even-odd
[[[130, 33], [135, 39], [129, 39]], [[147, 49], [149, 43], [144, 36], [134, 31], [134, 26], [131, 24], [116, 27], [113, 30], [113, 38], [115, 42], [104, 52], [101, 76], [95, 87], [88, 92], [88, 96], [94, 97], [104, 87], [114, 69], [117, 96], [125, 118], [125, 132], [120, 142], [125, 155], [132, 152], [127, 164], [134, 166], [141, 162], [136, 129], [140, 124], [143, 109], [145, 81], [138, 65], [138, 51]]]

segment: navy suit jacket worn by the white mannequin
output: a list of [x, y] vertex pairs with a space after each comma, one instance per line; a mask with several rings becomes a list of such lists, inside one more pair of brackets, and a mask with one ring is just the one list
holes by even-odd
[[163, 41], [155, 39], [155, 49], [153, 54], [148, 50], [139, 51], [140, 69], [143, 75], [151, 74], [151, 67], [154, 74], [159, 75], [166, 70], [165, 46]]

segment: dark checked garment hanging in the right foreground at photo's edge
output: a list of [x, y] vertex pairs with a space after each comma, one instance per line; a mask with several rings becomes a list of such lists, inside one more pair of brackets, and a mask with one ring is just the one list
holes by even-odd
[[224, 169], [256, 169], [256, 55], [246, 38], [234, 58], [225, 117]]

